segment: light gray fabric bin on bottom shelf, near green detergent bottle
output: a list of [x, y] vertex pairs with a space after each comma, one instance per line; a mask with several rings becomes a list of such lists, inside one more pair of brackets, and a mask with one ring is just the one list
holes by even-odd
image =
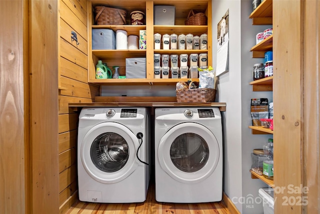
[[145, 58], [126, 58], [125, 59], [125, 78], [146, 78]]

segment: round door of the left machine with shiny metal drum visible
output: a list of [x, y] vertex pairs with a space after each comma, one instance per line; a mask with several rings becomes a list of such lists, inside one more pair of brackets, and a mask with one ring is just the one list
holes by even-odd
[[138, 146], [137, 137], [126, 126], [104, 122], [84, 135], [79, 155], [84, 169], [93, 179], [115, 183], [138, 166], [135, 158]]

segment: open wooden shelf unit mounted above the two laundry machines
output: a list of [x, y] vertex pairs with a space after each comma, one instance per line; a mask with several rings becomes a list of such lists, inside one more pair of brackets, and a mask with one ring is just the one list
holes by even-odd
[[[163, 0], [163, 1], [149, 1], [149, 0], [138, 0], [138, 1], [104, 1], [104, 0], [92, 0], [89, 1], [89, 14], [88, 14], [88, 82], [99, 85], [108, 84], [159, 84], [159, 85], [174, 85], [181, 79], [156, 79], [154, 78], [154, 66], [153, 66], [153, 55], [154, 54], [207, 54], [207, 65], [212, 65], [212, 51], [211, 51], [211, 1], [210, 0], [194, 0], [192, 2], [182, 0]], [[95, 6], [106, 6], [110, 8], [118, 8], [127, 11], [126, 25], [96, 25], [94, 22], [94, 7]], [[175, 7], [175, 20], [174, 25], [153, 25], [153, 7], [156, 5], [166, 5]], [[191, 9], [196, 9], [198, 13], [204, 13], [207, 16], [207, 25], [205, 26], [186, 26], [184, 21], [186, 20]], [[133, 11], [141, 11], [145, 14], [145, 25], [131, 26], [130, 25], [130, 13]], [[114, 32], [117, 30], [124, 30], [127, 35], [139, 36], [140, 30], [146, 32], [146, 49], [144, 50], [92, 50], [92, 29], [111, 29]], [[164, 34], [192, 34], [200, 36], [207, 34], [207, 50], [154, 50], [153, 35], [159, 33]], [[107, 64], [107, 67], [112, 68], [113, 66], [119, 66], [120, 76], [125, 75], [125, 59], [142, 57], [146, 58], [146, 78], [143, 79], [95, 79], [95, 65], [98, 60], [102, 60]], [[187, 79], [186, 79], [187, 80]], [[193, 81], [198, 81], [197, 78], [193, 78]]]

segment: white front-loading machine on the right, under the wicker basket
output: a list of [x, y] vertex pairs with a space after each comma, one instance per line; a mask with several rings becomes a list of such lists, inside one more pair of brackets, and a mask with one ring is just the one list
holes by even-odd
[[222, 125], [218, 108], [156, 108], [155, 199], [199, 203], [222, 199]]

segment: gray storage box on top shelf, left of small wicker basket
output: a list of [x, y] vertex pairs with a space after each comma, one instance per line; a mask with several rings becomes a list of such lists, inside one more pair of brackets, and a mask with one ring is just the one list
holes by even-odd
[[175, 7], [174, 6], [154, 6], [154, 25], [174, 25]]

